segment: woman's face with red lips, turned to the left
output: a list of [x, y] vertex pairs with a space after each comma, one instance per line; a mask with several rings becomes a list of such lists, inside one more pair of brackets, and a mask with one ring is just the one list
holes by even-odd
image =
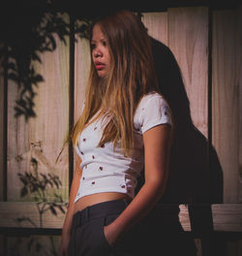
[[110, 67], [110, 54], [107, 48], [106, 37], [99, 24], [93, 27], [91, 48], [94, 66], [96, 67], [98, 76], [103, 78], [106, 76]]

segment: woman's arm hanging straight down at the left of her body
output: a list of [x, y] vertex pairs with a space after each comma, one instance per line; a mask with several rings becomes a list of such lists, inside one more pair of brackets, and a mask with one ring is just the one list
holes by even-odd
[[69, 198], [69, 206], [67, 210], [67, 214], [65, 217], [64, 225], [62, 228], [62, 237], [61, 237], [61, 244], [59, 248], [59, 256], [67, 255], [67, 247], [71, 236], [71, 229], [73, 224], [73, 215], [75, 209], [75, 198], [79, 187], [79, 179], [82, 173], [80, 169], [81, 159], [79, 156], [76, 158], [76, 169], [74, 173], [74, 178], [72, 181], [71, 191], [70, 191], [70, 198]]

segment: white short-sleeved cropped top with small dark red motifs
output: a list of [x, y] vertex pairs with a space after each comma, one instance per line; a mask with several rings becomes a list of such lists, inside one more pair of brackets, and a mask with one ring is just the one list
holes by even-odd
[[144, 165], [142, 134], [160, 124], [172, 125], [166, 100], [156, 92], [143, 96], [134, 117], [135, 147], [131, 156], [127, 157], [120, 144], [116, 145], [115, 150], [113, 143], [98, 146], [106, 118], [91, 122], [78, 138], [76, 153], [81, 158], [82, 176], [75, 203], [81, 197], [101, 192], [119, 192], [134, 198], [136, 178]]

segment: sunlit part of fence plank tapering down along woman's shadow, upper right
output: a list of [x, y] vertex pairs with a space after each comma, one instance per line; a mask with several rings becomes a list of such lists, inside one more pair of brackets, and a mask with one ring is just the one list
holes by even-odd
[[168, 47], [181, 69], [194, 124], [207, 137], [208, 8], [168, 9]]

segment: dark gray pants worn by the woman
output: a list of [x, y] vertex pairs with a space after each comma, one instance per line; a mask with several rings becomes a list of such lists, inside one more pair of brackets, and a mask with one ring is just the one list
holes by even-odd
[[115, 200], [76, 212], [73, 218], [68, 256], [132, 256], [133, 254], [127, 251], [128, 244], [121, 242], [111, 247], [104, 234], [104, 226], [114, 221], [128, 205], [127, 200]]

